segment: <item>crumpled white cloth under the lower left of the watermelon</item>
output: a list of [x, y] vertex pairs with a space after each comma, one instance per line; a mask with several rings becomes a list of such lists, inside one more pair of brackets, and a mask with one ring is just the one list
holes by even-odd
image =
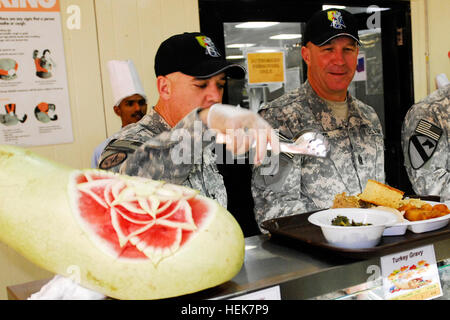
[[86, 289], [72, 279], [56, 275], [28, 300], [103, 300], [106, 296]]

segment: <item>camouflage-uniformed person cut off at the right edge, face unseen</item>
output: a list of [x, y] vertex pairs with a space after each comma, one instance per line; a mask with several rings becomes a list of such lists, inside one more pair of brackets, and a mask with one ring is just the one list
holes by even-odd
[[413, 105], [402, 126], [405, 168], [416, 194], [450, 200], [450, 84]]

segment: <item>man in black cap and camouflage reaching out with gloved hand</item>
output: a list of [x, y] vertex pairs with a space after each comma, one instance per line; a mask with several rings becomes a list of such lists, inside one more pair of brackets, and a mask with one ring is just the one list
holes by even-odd
[[99, 168], [182, 184], [226, 207], [226, 189], [213, 152], [214, 134], [208, 128], [225, 132], [223, 126], [233, 119], [248, 128], [270, 128], [249, 110], [217, 105], [225, 75], [242, 78], [245, 70], [228, 63], [208, 37], [184, 33], [161, 44], [155, 72], [158, 103], [139, 122], [111, 137]]

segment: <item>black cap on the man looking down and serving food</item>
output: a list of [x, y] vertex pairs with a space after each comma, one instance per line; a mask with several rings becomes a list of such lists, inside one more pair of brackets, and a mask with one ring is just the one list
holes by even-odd
[[156, 76], [182, 72], [200, 79], [225, 72], [235, 79], [245, 77], [245, 69], [228, 62], [211, 38], [199, 32], [174, 35], [161, 43], [155, 56]]

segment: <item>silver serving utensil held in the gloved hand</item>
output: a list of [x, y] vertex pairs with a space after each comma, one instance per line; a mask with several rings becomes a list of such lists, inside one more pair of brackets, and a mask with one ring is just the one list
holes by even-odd
[[[288, 139], [279, 136], [280, 138], [280, 152], [286, 154], [301, 154], [313, 156], [318, 158], [325, 158], [330, 151], [330, 144], [328, 139], [316, 131], [304, 131], [299, 135], [295, 142], [286, 142]], [[285, 141], [282, 141], [285, 140]], [[226, 135], [218, 133], [216, 135], [216, 142], [220, 144], [226, 143]], [[253, 143], [252, 148], [256, 147], [256, 142]], [[270, 143], [267, 144], [267, 150], [272, 150]]]

